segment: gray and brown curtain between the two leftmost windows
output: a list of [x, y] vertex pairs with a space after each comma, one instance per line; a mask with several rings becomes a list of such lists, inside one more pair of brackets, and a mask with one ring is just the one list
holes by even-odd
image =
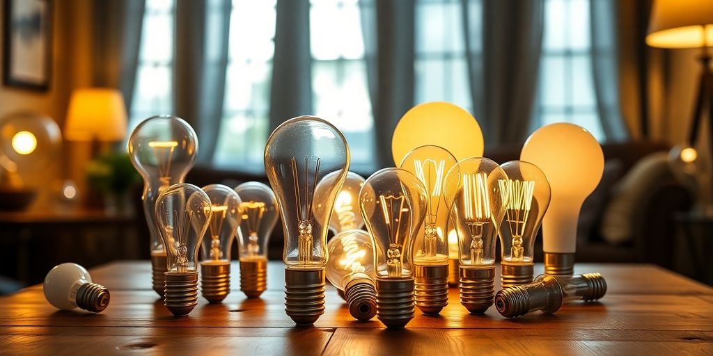
[[198, 162], [211, 161], [220, 131], [230, 9], [230, 0], [176, 1], [173, 106], [198, 134]]

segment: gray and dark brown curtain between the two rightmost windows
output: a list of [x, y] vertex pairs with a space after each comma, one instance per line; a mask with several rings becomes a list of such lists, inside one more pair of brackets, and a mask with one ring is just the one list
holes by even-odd
[[[471, 19], [474, 1], [481, 1], [482, 22]], [[488, 146], [520, 144], [528, 135], [537, 92], [543, 0], [463, 0], [462, 4], [473, 114]], [[482, 38], [474, 36], [480, 30]]]

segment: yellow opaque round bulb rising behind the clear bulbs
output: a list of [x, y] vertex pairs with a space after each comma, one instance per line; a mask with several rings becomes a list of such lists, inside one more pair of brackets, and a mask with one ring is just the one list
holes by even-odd
[[483, 155], [483, 132], [468, 111], [451, 103], [432, 102], [414, 106], [394, 129], [391, 153], [394, 164], [416, 147], [436, 145], [456, 159]]

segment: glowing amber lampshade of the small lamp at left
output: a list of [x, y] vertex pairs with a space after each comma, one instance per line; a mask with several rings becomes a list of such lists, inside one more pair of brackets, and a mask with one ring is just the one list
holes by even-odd
[[71, 141], [120, 141], [126, 135], [124, 98], [116, 89], [74, 90], [69, 102], [64, 137]]

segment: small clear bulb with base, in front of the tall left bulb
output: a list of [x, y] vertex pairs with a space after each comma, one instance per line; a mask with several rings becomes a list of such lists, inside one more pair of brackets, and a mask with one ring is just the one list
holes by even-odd
[[211, 208], [210, 198], [193, 184], [173, 184], [156, 199], [156, 221], [167, 252], [164, 300], [173, 315], [188, 315], [198, 304], [198, 248]]

